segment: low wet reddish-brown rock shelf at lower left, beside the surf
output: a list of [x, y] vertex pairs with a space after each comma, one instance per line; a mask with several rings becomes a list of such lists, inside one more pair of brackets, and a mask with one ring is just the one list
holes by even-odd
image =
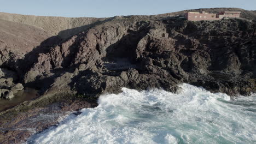
[[78, 115], [78, 112], [74, 111], [95, 106], [95, 102], [88, 103], [85, 100], [62, 100], [20, 112], [19, 115], [5, 113], [0, 118], [0, 142], [24, 143], [31, 135], [57, 125], [68, 114]]

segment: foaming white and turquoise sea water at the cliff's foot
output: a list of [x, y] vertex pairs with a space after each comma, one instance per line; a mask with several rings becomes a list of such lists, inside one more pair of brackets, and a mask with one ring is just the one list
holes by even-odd
[[256, 143], [256, 95], [230, 99], [183, 83], [102, 95], [94, 109], [70, 115], [27, 143]]

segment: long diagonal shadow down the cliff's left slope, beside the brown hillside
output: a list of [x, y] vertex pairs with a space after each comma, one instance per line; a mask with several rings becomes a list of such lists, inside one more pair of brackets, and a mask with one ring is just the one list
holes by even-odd
[[[55, 46], [63, 43], [67, 39], [71, 38], [73, 35], [83, 32], [83, 31], [87, 31], [91, 27], [100, 25], [101, 23], [110, 21], [112, 19], [114, 19], [114, 17], [108, 18], [103, 21], [96, 21], [89, 25], [72, 28], [72, 29], [66, 29], [65, 31], [59, 32], [59, 34], [57, 34], [56, 36], [50, 37], [50, 38], [42, 41], [42, 43], [40, 43], [40, 45], [35, 47], [32, 51], [26, 53], [26, 55], [24, 56], [23, 59], [18, 59], [17, 71], [18, 71], [18, 74], [20, 77], [20, 81], [22, 81], [22, 83], [25, 82], [24, 79], [25, 79], [26, 73], [28, 71], [30, 71], [33, 68], [34, 64], [36, 64], [38, 62], [38, 58], [39, 58], [40, 54], [49, 53], [51, 50], [51, 47], [55, 47]], [[75, 47], [75, 45], [72, 45], [70, 47], [72, 49], [71, 53], [75, 52], [75, 49], [73, 50], [74, 47]], [[64, 62], [71, 61], [72, 56], [73, 56], [72, 54], [66, 56], [65, 59], [63, 59], [63, 61]], [[51, 59], [50, 59], [50, 61], [51, 61], [51, 65], [54, 67], [54, 64]], [[70, 62], [68, 62], [68, 63], [70, 64]], [[63, 62], [62, 62], [62, 64], [63, 64]], [[69, 66], [67, 64], [64, 64], [64, 65], [66, 67]], [[25, 86], [41, 89], [41, 91], [43, 93], [47, 89], [47, 87], [49, 87], [51, 84], [54, 83], [54, 79], [56, 77], [59, 77], [62, 74], [64, 74], [65, 71], [68, 71], [67, 68], [50, 70], [50, 72], [53, 74], [52, 76], [49, 76], [49, 77], [46, 76], [45, 78], [42, 78], [42, 74], [41, 74], [40, 76], [36, 76], [36, 79], [34, 81], [25, 83]]]

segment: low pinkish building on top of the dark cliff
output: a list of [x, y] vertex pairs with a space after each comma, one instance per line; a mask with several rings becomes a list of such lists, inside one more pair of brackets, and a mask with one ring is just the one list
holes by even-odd
[[240, 13], [240, 11], [224, 11], [218, 14], [205, 13], [205, 11], [202, 11], [202, 13], [188, 12], [185, 13], [185, 17], [188, 21], [220, 20], [224, 17], [239, 18]]

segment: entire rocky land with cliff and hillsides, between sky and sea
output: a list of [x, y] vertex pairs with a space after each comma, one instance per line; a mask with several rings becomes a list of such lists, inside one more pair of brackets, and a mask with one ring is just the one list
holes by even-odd
[[65, 109], [90, 107], [80, 98], [96, 106], [99, 95], [121, 87], [179, 92], [178, 84], [186, 82], [232, 96], [256, 92], [255, 11], [193, 11], [200, 10], [240, 10], [244, 19], [193, 22], [181, 18], [184, 11], [106, 19], [0, 14], [1, 97], [23, 86], [42, 94], [0, 113], [0, 142], [32, 134], [15, 128], [53, 125], [56, 120], [26, 123], [40, 112], [34, 107], [55, 103], [60, 109], [66, 104], [59, 102], [73, 96], [76, 102]]

